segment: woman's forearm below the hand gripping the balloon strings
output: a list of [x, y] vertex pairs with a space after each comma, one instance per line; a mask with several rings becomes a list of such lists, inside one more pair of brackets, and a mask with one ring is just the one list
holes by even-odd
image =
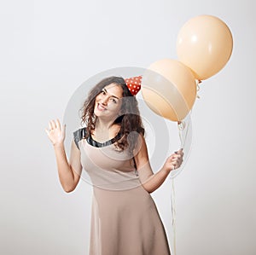
[[148, 177], [148, 180], [143, 183], [143, 188], [145, 188], [148, 193], [153, 192], [155, 189], [159, 188], [162, 183], [165, 182], [166, 177], [169, 175], [170, 171], [166, 170], [164, 167], [161, 168], [160, 171], [157, 171], [152, 176]]

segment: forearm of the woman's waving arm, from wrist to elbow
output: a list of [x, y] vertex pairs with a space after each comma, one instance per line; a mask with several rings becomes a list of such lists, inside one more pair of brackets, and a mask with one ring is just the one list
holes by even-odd
[[55, 144], [54, 149], [61, 186], [66, 192], [70, 192], [74, 187], [74, 177], [73, 171], [67, 161], [64, 144]]

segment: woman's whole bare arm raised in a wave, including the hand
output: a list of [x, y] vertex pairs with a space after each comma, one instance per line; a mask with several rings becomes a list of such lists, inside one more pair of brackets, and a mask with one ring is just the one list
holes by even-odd
[[60, 121], [57, 119], [49, 122], [49, 130], [45, 130], [55, 149], [55, 159], [59, 179], [62, 188], [66, 192], [73, 191], [79, 183], [82, 165], [80, 163], [80, 151], [75, 142], [72, 142], [69, 163], [64, 148], [65, 126], [61, 129]]

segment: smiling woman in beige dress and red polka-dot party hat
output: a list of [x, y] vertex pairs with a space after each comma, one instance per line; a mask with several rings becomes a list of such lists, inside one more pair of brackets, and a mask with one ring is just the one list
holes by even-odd
[[[126, 81], [126, 82], [125, 82]], [[141, 77], [104, 78], [82, 108], [85, 127], [76, 130], [69, 162], [65, 126], [49, 121], [61, 186], [73, 191], [81, 171], [90, 176], [93, 200], [90, 255], [167, 255], [166, 231], [150, 193], [183, 162], [182, 149], [154, 173], [148, 161], [136, 94]]]

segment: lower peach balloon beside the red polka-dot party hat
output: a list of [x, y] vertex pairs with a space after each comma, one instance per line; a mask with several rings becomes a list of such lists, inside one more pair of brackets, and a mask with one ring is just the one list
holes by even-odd
[[142, 95], [154, 113], [172, 121], [182, 121], [195, 102], [195, 77], [180, 61], [155, 61], [143, 73]]

